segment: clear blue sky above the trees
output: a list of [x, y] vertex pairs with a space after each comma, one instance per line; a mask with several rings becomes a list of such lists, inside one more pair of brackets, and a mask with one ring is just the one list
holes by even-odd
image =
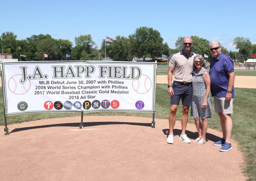
[[1, 0], [0, 33], [17, 39], [50, 34], [75, 45], [79, 35], [92, 35], [100, 47], [105, 35], [128, 37], [136, 28], [158, 30], [170, 48], [179, 36], [197, 35], [218, 41], [228, 50], [236, 36], [256, 43], [256, 4], [244, 0]]

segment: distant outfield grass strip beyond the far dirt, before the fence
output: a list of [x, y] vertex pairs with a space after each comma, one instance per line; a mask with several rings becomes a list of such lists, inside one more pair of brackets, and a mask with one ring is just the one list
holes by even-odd
[[[208, 70], [209, 71], [209, 70]], [[168, 65], [158, 65], [156, 75], [167, 75]], [[235, 70], [236, 76], [256, 76], [256, 70]]]

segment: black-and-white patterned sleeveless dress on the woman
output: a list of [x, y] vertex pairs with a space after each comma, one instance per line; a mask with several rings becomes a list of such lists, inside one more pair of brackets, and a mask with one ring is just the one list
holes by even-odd
[[206, 92], [206, 85], [204, 83], [204, 72], [205, 68], [202, 67], [202, 70], [196, 75], [196, 70], [192, 73], [192, 108], [190, 115], [194, 118], [212, 118], [212, 102], [210, 93], [207, 99], [207, 106], [205, 109], [202, 108], [204, 96]]

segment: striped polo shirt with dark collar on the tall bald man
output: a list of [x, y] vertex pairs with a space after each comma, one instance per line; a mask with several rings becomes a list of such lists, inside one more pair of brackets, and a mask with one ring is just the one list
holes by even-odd
[[195, 56], [196, 54], [193, 51], [189, 56], [186, 56], [183, 50], [172, 56], [169, 66], [174, 68], [174, 81], [191, 82]]

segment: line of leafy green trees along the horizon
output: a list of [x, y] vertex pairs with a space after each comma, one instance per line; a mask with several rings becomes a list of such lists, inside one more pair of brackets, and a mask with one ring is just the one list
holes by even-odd
[[[13, 32], [3, 32], [0, 37], [1, 53], [12, 53], [14, 59], [21, 58], [22, 61], [32, 60], [90, 60], [90, 57], [109, 57], [117, 61], [128, 61], [134, 56], [138, 58], [162, 57], [162, 54], [170, 56], [172, 53], [177, 53], [182, 47], [184, 37], [178, 37], [175, 42], [175, 49], [170, 49], [168, 44], [163, 42], [163, 38], [159, 31], [153, 28], [140, 27], [135, 30], [135, 33], [128, 37], [117, 35], [113, 42], [102, 40], [101, 47], [98, 48], [92, 40], [92, 36], [80, 35], [75, 37], [75, 45], [67, 39], [54, 39], [51, 35], [32, 35], [26, 39], [17, 40], [17, 35]], [[212, 58], [209, 41], [196, 35], [191, 36], [193, 40], [193, 51], [204, 56], [208, 55]], [[252, 44], [249, 38], [236, 37], [233, 45], [238, 49], [228, 51], [221, 46], [224, 54], [229, 54], [232, 59], [237, 57], [239, 62], [244, 62], [251, 57], [252, 53], [256, 53], [256, 44]], [[43, 58], [43, 53], [48, 55], [48, 58]], [[20, 54], [26, 57], [20, 57]], [[67, 58], [66, 55], [70, 55]]]

